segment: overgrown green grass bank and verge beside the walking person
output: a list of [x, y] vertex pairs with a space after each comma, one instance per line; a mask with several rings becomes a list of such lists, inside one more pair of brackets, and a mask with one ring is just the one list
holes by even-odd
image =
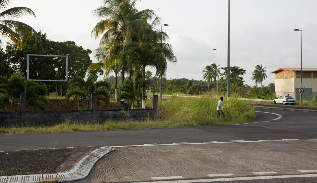
[[[176, 97], [175, 97], [176, 98]], [[245, 101], [232, 99], [223, 101], [223, 111], [226, 117], [217, 118], [217, 99], [192, 98], [184, 102], [180, 99], [175, 101], [159, 101], [157, 120], [145, 119], [144, 121], [105, 121], [102, 123], [80, 124], [65, 121], [54, 126], [31, 126], [11, 127], [0, 129], [0, 134], [23, 134], [23, 133], [50, 133], [65, 131], [97, 131], [113, 129], [136, 129], [136, 128], [159, 128], [197, 125], [228, 125], [243, 123], [256, 119], [253, 107]], [[151, 100], [146, 101], [146, 106], [152, 105]]]

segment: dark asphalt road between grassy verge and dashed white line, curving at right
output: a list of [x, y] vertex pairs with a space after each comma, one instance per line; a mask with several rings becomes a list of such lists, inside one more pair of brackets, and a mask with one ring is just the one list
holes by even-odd
[[[258, 119], [242, 125], [1, 135], [0, 151], [17, 150], [21, 148], [317, 138], [317, 113], [263, 108], [256, 108], [256, 111], [258, 111]], [[271, 113], [280, 114], [282, 118], [272, 120], [278, 116]]]

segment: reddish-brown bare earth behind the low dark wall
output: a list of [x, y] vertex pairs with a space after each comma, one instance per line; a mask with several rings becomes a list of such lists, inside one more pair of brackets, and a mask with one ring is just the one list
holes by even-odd
[[[86, 109], [87, 102], [83, 102], [82, 104], [83, 109]], [[97, 106], [97, 109], [127, 109], [129, 108], [129, 105], [127, 103], [124, 103], [124, 105], [118, 105], [117, 102], [111, 101], [109, 106], [106, 105], [105, 102], [101, 102], [99, 106]], [[73, 100], [69, 100], [67, 103], [65, 100], [58, 100], [58, 99], [50, 99], [49, 100], [49, 111], [59, 111], [59, 110], [77, 110], [77, 104]], [[19, 111], [20, 106], [19, 103], [16, 103], [13, 106], [14, 111]], [[32, 106], [26, 106], [27, 111], [33, 111]]]

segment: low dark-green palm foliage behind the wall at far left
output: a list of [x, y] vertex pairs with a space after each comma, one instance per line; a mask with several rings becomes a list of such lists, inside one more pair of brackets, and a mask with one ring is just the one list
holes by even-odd
[[[24, 92], [26, 84], [26, 103], [33, 106], [33, 110], [48, 110], [49, 100], [45, 97], [48, 94], [48, 88], [41, 82], [26, 81], [21, 73], [17, 72], [7, 78], [0, 76], [0, 110], [7, 111], [9, 106], [11, 111], [20, 94]], [[41, 93], [42, 95], [39, 95]]]

